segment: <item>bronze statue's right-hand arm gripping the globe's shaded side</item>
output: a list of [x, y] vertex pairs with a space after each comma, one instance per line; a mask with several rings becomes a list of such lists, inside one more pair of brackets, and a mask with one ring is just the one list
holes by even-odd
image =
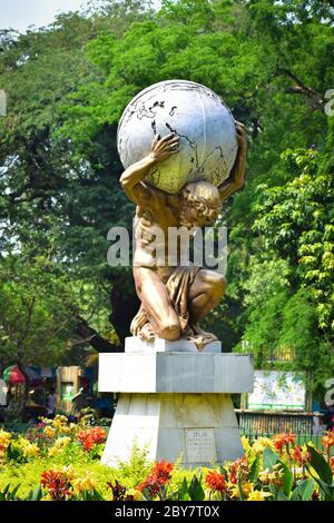
[[247, 141], [243, 124], [236, 121], [236, 136], [238, 152], [233, 169], [223, 184], [218, 187], [220, 200], [225, 201], [236, 190], [240, 189], [245, 182]]

